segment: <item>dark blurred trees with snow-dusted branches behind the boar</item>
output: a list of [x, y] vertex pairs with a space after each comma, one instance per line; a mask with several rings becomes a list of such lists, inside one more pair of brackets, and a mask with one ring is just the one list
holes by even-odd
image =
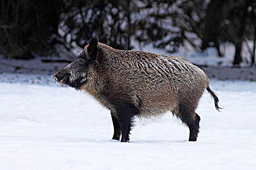
[[187, 40], [200, 52], [214, 46], [220, 57], [220, 43], [231, 42], [234, 65], [242, 61], [246, 43], [255, 65], [256, 0], [0, 1], [0, 54], [5, 58], [58, 56], [57, 44], [71, 51], [95, 36], [122, 50], [132, 49], [132, 38], [170, 52]]

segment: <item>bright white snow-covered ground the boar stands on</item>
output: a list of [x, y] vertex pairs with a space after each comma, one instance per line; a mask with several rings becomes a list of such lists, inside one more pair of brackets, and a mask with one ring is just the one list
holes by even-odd
[[12, 76], [0, 74], [0, 170], [256, 169], [256, 82], [211, 81], [224, 109], [205, 92], [197, 142], [166, 113], [136, 119], [121, 143], [110, 140], [109, 111], [88, 95], [50, 76]]

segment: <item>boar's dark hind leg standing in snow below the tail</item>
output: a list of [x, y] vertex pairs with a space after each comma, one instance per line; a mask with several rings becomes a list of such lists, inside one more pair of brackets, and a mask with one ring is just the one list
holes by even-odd
[[189, 141], [197, 141], [200, 117], [195, 112], [195, 108], [180, 104], [178, 117], [183, 123], [186, 123], [189, 128]]

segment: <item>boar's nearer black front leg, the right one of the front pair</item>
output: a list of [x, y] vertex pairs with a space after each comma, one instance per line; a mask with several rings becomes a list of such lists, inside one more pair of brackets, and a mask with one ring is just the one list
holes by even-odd
[[121, 142], [129, 142], [129, 134], [133, 126], [134, 116], [139, 114], [139, 109], [129, 103], [118, 104], [117, 117], [121, 128]]

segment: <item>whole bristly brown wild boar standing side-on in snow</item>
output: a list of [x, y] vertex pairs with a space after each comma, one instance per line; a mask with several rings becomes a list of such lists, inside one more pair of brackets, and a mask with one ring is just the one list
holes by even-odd
[[113, 139], [129, 141], [133, 120], [171, 111], [190, 129], [196, 141], [200, 117], [195, 112], [205, 88], [218, 110], [218, 98], [204, 71], [171, 55], [122, 51], [97, 38], [67, 67], [53, 76], [57, 82], [85, 91], [111, 111]]

